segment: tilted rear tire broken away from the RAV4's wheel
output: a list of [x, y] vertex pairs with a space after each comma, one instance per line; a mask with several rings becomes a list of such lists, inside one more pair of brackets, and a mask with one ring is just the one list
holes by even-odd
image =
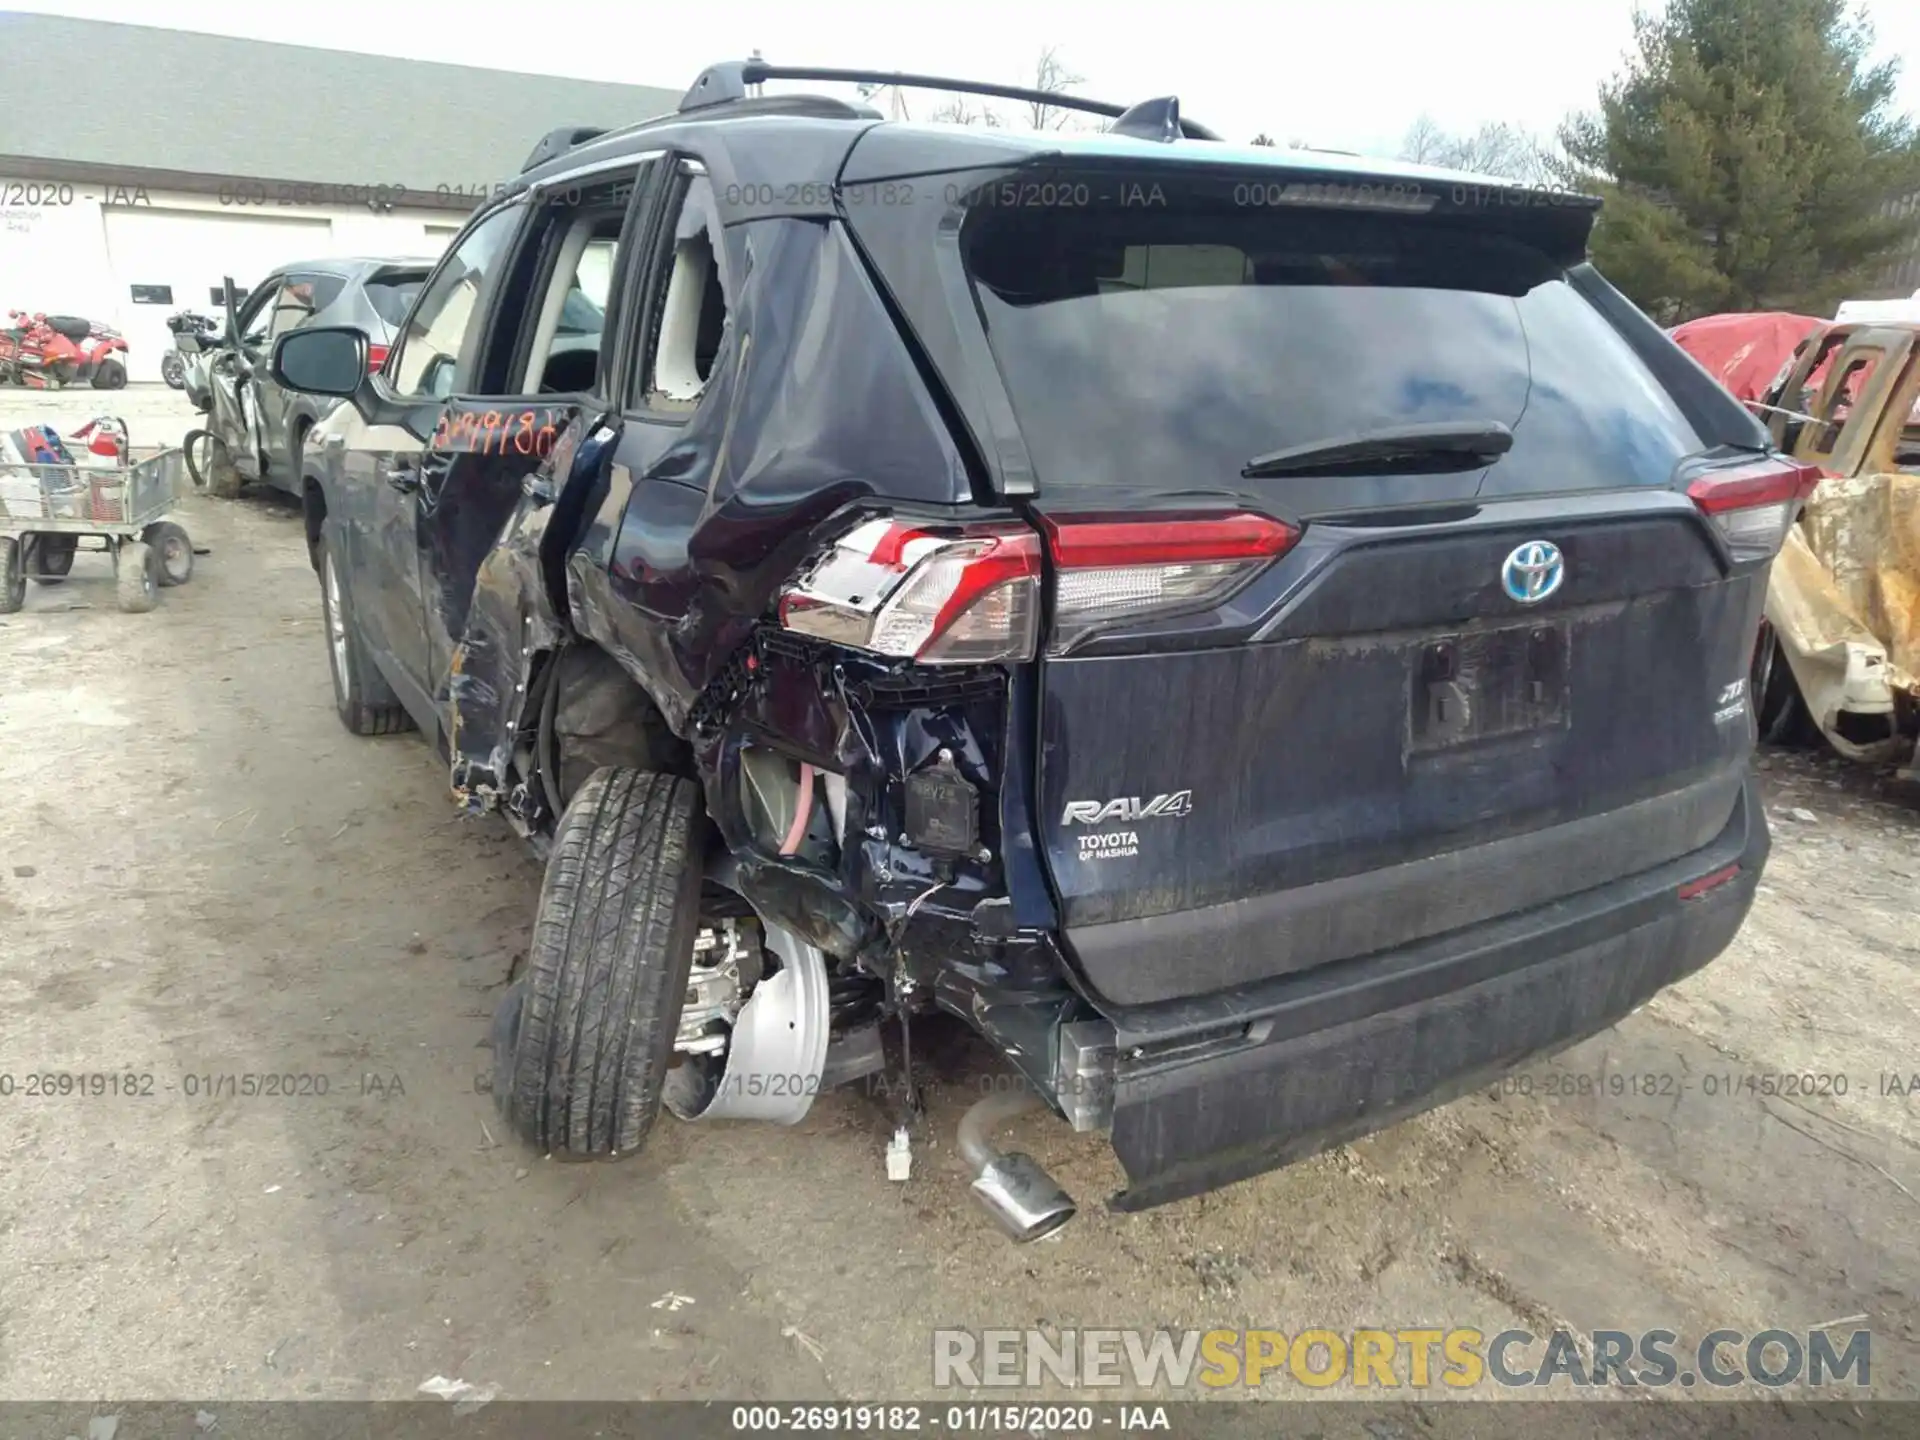
[[526, 979], [501, 1000], [495, 1102], [555, 1160], [639, 1150], [660, 1112], [699, 929], [691, 780], [597, 770], [561, 818]]

